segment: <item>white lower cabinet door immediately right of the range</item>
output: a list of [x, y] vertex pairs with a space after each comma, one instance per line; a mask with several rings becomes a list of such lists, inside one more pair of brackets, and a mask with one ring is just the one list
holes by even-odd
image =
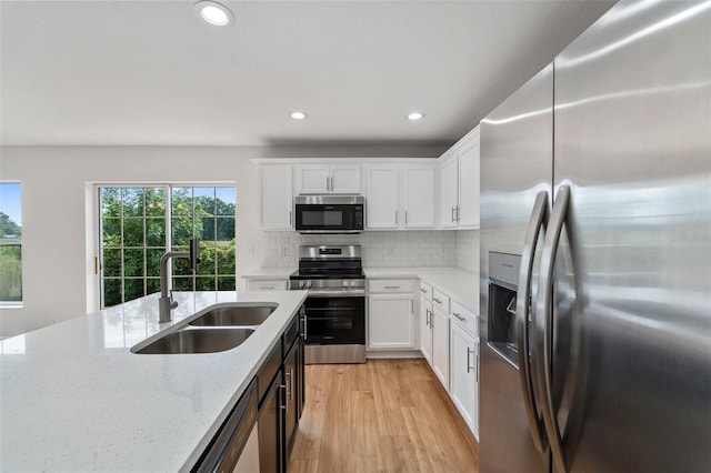
[[368, 311], [368, 348], [414, 348], [414, 298], [412, 294], [371, 294]]

